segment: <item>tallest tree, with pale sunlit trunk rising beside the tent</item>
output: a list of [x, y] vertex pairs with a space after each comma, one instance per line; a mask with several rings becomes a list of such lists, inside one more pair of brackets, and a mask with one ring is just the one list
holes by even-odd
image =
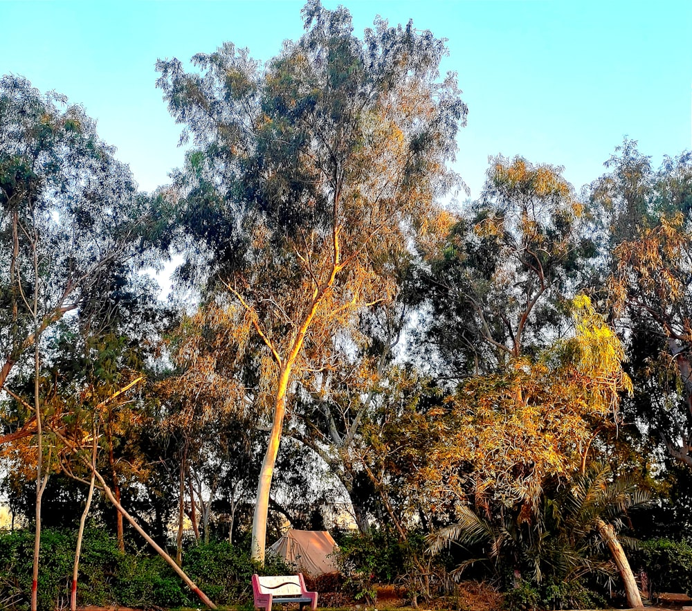
[[429, 31], [377, 19], [358, 38], [345, 8], [316, 0], [302, 16], [304, 35], [264, 67], [230, 43], [194, 56], [194, 72], [158, 63], [194, 143], [171, 191], [205, 263], [203, 309], [228, 323], [222, 352], [253, 356], [255, 400], [272, 418], [253, 520], [260, 561], [294, 383], [365, 307], [390, 300], [388, 255], [437, 219], [466, 116]]

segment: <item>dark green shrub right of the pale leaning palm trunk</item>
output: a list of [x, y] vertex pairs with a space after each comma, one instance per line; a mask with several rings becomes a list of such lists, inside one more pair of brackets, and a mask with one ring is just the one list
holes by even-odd
[[632, 567], [646, 572], [650, 592], [692, 594], [692, 542], [659, 538], [641, 541]]

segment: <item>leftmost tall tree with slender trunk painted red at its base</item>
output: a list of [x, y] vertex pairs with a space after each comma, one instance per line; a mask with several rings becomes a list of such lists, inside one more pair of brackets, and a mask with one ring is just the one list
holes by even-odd
[[[129, 170], [98, 139], [82, 107], [67, 106], [57, 94], [42, 95], [20, 77], [0, 79], [0, 390], [15, 399], [8, 405], [17, 415], [28, 405], [33, 411], [33, 610], [48, 481], [42, 396], [47, 336], [69, 311], [88, 325], [102, 309], [113, 279], [138, 253], [134, 236], [142, 208]], [[29, 401], [12, 388], [21, 373], [33, 377]]]

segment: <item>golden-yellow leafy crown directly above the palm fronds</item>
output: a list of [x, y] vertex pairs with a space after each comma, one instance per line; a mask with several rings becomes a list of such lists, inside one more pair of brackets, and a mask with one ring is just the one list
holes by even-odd
[[448, 399], [428, 475], [457, 498], [535, 509], [547, 479], [581, 466], [594, 425], [617, 417], [619, 392], [631, 390], [621, 344], [584, 295], [574, 318], [572, 340], [538, 361], [515, 358], [502, 373], [468, 379]]

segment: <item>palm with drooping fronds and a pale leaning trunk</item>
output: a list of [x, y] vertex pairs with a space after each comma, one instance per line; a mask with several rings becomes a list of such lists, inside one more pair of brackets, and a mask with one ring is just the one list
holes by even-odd
[[428, 551], [435, 554], [453, 542], [464, 547], [485, 543], [486, 558], [464, 560], [453, 576], [489, 560], [495, 569], [509, 565], [541, 583], [545, 576], [570, 581], [585, 573], [606, 572], [608, 563], [600, 558], [607, 547], [623, 578], [628, 603], [635, 607], [641, 598], [623, 545], [634, 547], [636, 540], [617, 536], [617, 531], [628, 510], [648, 500], [648, 492], [631, 477], [613, 477], [607, 464], [596, 462], [554, 500], [544, 494], [533, 515], [502, 508], [492, 518], [483, 518], [471, 507], [462, 507], [455, 524], [428, 536]]

